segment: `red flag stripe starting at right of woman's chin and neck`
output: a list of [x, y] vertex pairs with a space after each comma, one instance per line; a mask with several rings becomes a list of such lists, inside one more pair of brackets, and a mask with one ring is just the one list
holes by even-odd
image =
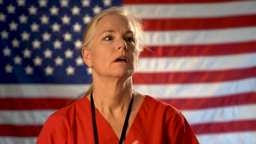
[[256, 77], [256, 67], [221, 71], [135, 73], [134, 84], [187, 84], [224, 82]]

